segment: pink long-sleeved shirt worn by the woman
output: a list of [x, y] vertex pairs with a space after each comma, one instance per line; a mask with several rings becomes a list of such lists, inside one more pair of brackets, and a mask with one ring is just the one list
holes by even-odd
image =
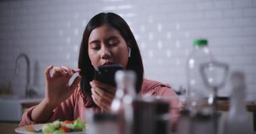
[[[143, 83], [141, 85], [141, 91], [139, 92], [139, 96], [147, 97], [147, 96], [174, 96], [178, 97], [177, 94], [172, 90], [172, 88], [168, 84], [162, 84], [160, 82], [156, 82], [153, 80], [148, 80], [146, 78], [143, 79]], [[181, 103], [178, 99], [171, 100], [171, 107], [181, 107]], [[74, 120], [78, 117], [80, 119], [85, 119], [86, 109], [94, 109], [94, 111], [100, 111], [98, 107], [87, 108], [88, 99], [85, 98], [80, 87], [77, 86], [73, 94], [67, 98], [63, 103], [61, 103], [58, 107], [53, 110], [53, 115], [49, 118], [47, 122], [53, 122], [57, 119], [63, 120]], [[36, 107], [36, 106], [34, 106]], [[36, 124], [36, 122], [32, 121], [31, 113], [34, 107], [26, 110], [26, 112], [22, 115], [22, 121], [20, 121], [20, 126]], [[172, 116], [179, 115], [179, 112], [176, 110], [170, 111]], [[174, 121], [176, 119], [172, 119]]]

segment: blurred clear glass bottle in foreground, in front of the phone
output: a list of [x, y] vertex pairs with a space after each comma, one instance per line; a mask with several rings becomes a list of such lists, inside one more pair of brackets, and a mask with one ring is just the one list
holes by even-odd
[[111, 111], [117, 114], [119, 133], [133, 133], [133, 100], [136, 97], [135, 93], [135, 72], [131, 70], [119, 70], [115, 74], [117, 83], [117, 92]]

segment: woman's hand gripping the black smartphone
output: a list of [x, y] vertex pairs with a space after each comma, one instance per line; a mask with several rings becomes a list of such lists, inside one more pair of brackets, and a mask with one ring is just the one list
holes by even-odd
[[92, 99], [94, 103], [103, 111], [110, 111], [116, 88], [97, 80], [92, 80], [90, 85], [92, 86]]

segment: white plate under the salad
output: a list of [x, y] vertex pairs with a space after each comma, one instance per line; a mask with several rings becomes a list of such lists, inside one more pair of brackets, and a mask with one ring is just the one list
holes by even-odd
[[[38, 130], [42, 129], [44, 124], [26, 125], [24, 127], [18, 127], [15, 129], [16, 133], [22, 134], [38, 134]], [[70, 132], [70, 134], [86, 134], [86, 131]]]

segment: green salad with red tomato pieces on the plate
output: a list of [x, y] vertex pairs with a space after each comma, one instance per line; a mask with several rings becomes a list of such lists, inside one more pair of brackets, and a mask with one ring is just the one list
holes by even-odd
[[85, 131], [86, 123], [80, 119], [75, 121], [54, 121], [42, 126], [42, 133], [69, 133], [77, 131]]

